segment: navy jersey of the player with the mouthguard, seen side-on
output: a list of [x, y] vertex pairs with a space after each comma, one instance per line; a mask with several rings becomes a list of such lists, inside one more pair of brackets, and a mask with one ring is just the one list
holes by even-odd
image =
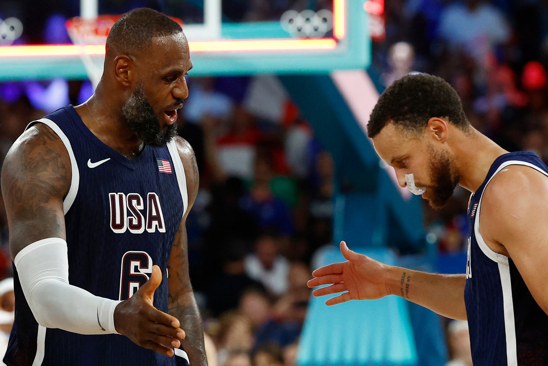
[[485, 181], [471, 196], [464, 300], [474, 366], [548, 365], [548, 316], [533, 299], [512, 259], [491, 250], [479, 233], [483, 191], [495, 174], [509, 165], [529, 166], [548, 176], [548, 167], [534, 153], [504, 154], [493, 162]]

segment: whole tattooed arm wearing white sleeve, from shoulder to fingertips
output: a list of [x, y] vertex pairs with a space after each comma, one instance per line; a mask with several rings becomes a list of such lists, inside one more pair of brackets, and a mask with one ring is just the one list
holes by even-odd
[[68, 283], [63, 198], [70, 182], [66, 148], [42, 123], [21, 135], [2, 167], [10, 252], [37, 322], [79, 334], [120, 333], [172, 356], [173, 350], [163, 345], [184, 333], [177, 319], [152, 306], [152, 294], [161, 281], [157, 266], [151, 280], [123, 302]]

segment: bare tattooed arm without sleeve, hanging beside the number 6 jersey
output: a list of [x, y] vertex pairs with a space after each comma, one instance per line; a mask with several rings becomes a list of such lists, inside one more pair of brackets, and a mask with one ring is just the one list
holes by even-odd
[[182, 346], [189, 354], [190, 364], [207, 366], [202, 318], [190, 283], [185, 226], [186, 217], [198, 194], [198, 166], [190, 144], [182, 138], [177, 138], [176, 143], [185, 168], [189, 207], [182, 218], [169, 258], [169, 314], [178, 318], [181, 328], [185, 330], [186, 338], [182, 341]]

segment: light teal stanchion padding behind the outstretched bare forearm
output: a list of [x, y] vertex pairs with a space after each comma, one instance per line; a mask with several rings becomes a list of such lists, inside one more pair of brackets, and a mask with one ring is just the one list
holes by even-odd
[[[384, 263], [395, 262], [387, 249], [356, 251]], [[322, 265], [343, 261], [333, 247], [324, 253]], [[406, 300], [387, 296], [327, 306], [324, 302], [330, 296], [336, 295], [311, 297], [299, 344], [299, 366], [418, 365]]]

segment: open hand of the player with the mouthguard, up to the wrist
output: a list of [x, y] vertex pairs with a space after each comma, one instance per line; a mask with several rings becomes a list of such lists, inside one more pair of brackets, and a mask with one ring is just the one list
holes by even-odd
[[312, 291], [314, 296], [346, 291], [326, 301], [326, 305], [335, 305], [350, 300], [375, 300], [390, 295], [387, 290], [386, 264], [351, 251], [344, 241], [341, 241], [340, 250], [347, 259], [346, 262], [329, 264], [312, 272], [315, 278], [308, 281], [310, 288], [331, 284]]

